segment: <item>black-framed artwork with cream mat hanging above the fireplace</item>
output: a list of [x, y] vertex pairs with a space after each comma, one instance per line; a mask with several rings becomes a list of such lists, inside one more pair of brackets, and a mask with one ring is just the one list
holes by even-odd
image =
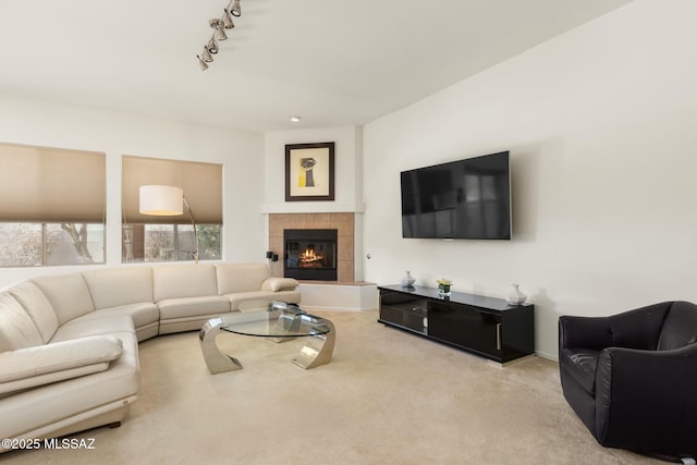
[[285, 201], [334, 199], [334, 143], [285, 146]]

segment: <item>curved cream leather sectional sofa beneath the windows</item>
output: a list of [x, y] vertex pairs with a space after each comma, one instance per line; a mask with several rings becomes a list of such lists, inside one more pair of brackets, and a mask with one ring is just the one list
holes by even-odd
[[297, 284], [270, 278], [266, 264], [186, 264], [45, 276], [0, 292], [0, 438], [119, 425], [139, 390], [138, 342], [199, 330], [245, 301], [298, 304]]

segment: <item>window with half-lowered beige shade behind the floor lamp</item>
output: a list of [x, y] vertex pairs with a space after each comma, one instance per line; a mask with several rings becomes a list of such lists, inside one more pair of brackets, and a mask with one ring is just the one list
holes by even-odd
[[[189, 215], [152, 217], [138, 212], [142, 185], [182, 187]], [[124, 156], [122, 163], [122, 260], [186, 261], [196, 258], [193, 218], [200, 260], [222, 257], [222, 166]]]

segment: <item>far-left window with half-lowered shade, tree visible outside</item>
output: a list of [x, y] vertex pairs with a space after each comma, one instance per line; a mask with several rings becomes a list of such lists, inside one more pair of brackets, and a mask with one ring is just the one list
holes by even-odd
[[105, 154], [0, 144], [0, 267], [105, 262]]

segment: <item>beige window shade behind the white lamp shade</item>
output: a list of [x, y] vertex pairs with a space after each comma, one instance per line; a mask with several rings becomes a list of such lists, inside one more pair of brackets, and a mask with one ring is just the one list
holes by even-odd
[[155, 217], [138, 212], [142, 185], [181, 187], [196, 223], [222, 224], [222, 164], [123, 156], [123, 219], [125, 223], [191, 224], [188, 211], [176, 217]]

